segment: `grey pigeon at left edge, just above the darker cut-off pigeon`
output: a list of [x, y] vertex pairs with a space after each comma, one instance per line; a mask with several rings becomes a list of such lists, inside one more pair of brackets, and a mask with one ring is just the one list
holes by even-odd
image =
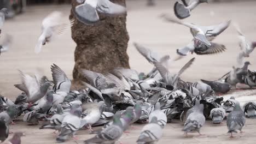
[[16, 108], [17, 108], [16, 105], [8, 106], [6, 111], [3, 111], [0, 113], [0, 119], [4, 119], [5, 123], [9, 125], [11, 121], [13, 121], [13, 118], [15, 117]]

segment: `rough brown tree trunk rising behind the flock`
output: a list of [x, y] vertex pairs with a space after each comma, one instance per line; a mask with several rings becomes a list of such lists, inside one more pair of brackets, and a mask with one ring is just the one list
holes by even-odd
[[[125, 0], [112, 0], [125, 5]], [[77, 6], [72, 0], [69, 19], [75, 19], [73, 9]], [[86, 80], [82, 69], [107, 73], [116, 67], [129, 68], [129, 57], [126, 53], [129, 35], [126, 30], [126, 13], [118, 16], [107, 16], [98, 13], [100, 21], [94, 25], [84, 25], [75, 19], [71, 28], [72, 39], [77, 43], [74, 53], [73, 79]]]

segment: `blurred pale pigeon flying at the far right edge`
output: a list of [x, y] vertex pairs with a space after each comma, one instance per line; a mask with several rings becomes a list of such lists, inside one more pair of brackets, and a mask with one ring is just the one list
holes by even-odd
[[250, 53], [253, 52], [254, 48], [256, 47], [256, 41], [248, 41], [245, 35], [241, 32], [241, 29], [238, 25], [234, 24], [236, 31], [238, 33], [238, 38], [240, 40], [240, 49], [241, 51], [238, 53], [237, 56], [237, 66], [242, 67], [243, 59], [245, 57], [249, 57]]

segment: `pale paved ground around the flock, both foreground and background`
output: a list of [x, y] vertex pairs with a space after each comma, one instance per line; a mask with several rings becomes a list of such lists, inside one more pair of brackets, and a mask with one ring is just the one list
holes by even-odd
[[[148, 8], [144, 5], [145, 1], [131, 1], [127, 3], [129, 9], [127, 17], [127, 29], [130, 35], [128, 53], [130, 56], [130, 66], [138, 71], [148, 72], [150, 65], [132, 46], [133, 42], [141, 43], [149, 48], [161, 53], [169, 54], [172, 57], [176, 55], [175, 51], [183, 47], [191, 40], [189, 29], [183, 26], [173, 25], [162, 22], [159, 19], [161, 13], [173, 14], [174, 1], [160, 1], [156, 7]], [[240, 23], [242, 31], [248, 39], [255, 38], [256, 19], [255, 17], [256, 2], [234, 2], [234, 3], [211, 3], [202, 4], [193, 10], [192, 16], [184, 21], [193, 22], [198, 25], [213, 25], [221, 21], [229, 20]], [[34, 46], [40, 34], [40, 23], [46, 15], [53, 10], [63, 11], [63, 19], [68, 19], [69, 5], [50, 5], [40, 7], [28, 7], [27, 13], [15, 17], [5, 23], [2, 37], [5, 33], [14, 36], [14, 43], [8, 53], [2, 53], [0, 56], [0, 93], [5, 97], [15, 99], [20, 93], [13, 87], [14, 84], [20, 83], [18, 69], [26, 73], [33, 74], [41, 70], [46, 76], [51, 76], [50, 65], [55, 63], [59, 65], [69, 77], [72, 77], [74, 65], [74, 48], [75, 43], [71, 39], [71, 33], [68, 32], [63, 37], [56, 39], [54, 43], [43, 47], [43, 51], [34, 54]], [[187, 81], [197, 81], [199, 79], [217, 79], [227, 71], [232, 65], [235, 65], [235, 59], [238, 52], [238, 39], [233, 27], [214, 40], [215, 42], [225, 44], [227, 51], [220, 55], [213, 56], [196, 56], [190, 55], [181, 61], [173, 63], [171, 71], [178, 71], [180, 64], [184, 64], [191, 57], [196, 57], [193, 66], [188, 69], [182, 78]], [[256, 69], [256, 52], [253, 52], [248, 61], [252, 63], [250, 69]], [[255, 90], [240, 91], [230, 93], [225, 96], [229, 98], [235, 95], [240, 101], [256, 100]], [[11, 125], [12, 131], [24, 131], [26, 137], [22, 138], [22, 143], [55, 143], [55, 137], [51, 134], [52, 130], [39, 130], [38, 127], [26, 126], [26, 123], [17, 122]], [[233, 140], [229, 139], [226, 134], [227, 129], [225, 122], [220, 125], [213, 125], [207, 121], [201, 129], [205, 136], [184, 137], [181, 131], [183, 125], [179, 121], [174, 121], [164, 129], [164, 136], [159, 143], [255, 143], [256, 132], [255, 119], [247, 119], [245, 128], [246, 133], [238, 134]], [[142, 125], [136, 125], [137, 129], [131, 130], [131, 133], [124, 134], [121, 137], [123, 143], [135, 143]], [[67, 143], [82, 143], [92, 135], [88, 135], [87, 130], [78, 131], [80, 141], [68, 141]], [[193, 135], [197, 135], [192, 133]]]

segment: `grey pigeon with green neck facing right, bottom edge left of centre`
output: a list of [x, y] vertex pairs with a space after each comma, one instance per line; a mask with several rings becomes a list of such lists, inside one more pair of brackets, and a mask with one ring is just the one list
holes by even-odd
[[89, 143], [115, 143], [123, 135], [123, 124], [120, 118], [115, 115], [113, 123], [106, 129], [103, 129], [99, 134], [89, 140], [84, 141], [85, 144]]

